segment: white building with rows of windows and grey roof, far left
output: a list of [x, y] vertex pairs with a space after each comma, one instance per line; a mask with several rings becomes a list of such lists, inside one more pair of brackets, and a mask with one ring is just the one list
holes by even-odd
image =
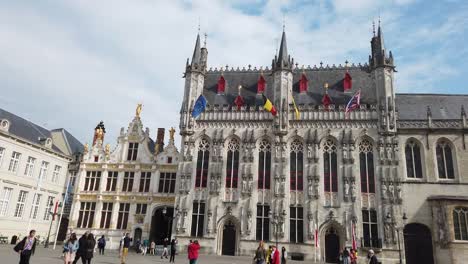
[[62, 202], [77, 149], [82, 145], [66, 130], [49, 131], [0, 109], [0, 237], [10, 242], [35, 229], [41, 240], [46, 238], [49, 212]]

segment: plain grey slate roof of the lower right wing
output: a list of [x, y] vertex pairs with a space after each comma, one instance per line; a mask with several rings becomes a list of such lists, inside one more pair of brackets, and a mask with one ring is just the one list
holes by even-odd
[[461, 107], [468, 109], [468, 95], [396, 94], [399, 120], [427, 120], [430, 107], [433, 120], [461, 119]]

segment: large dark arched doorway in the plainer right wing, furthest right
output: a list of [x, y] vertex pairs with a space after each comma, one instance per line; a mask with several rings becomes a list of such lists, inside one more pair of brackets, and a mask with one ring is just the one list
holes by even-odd
[[418, 223], [407, 224], [403, 231], [406, 264], [434, 264], [431, 230]]

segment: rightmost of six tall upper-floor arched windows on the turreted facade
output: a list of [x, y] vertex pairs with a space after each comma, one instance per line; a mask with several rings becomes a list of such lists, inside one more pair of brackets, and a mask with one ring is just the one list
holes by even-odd
[[364, 139], [359, 144], [359, 168], [361, 171], [361, 192], [375, 193], [374, 153], [372, 143]]

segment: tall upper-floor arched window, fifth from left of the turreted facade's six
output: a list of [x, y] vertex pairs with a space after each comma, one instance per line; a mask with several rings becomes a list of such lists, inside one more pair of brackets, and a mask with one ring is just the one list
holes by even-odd
[[336, 145], [327, 139], [323, 145], [323, 176], [325, 192], [338, 192]]

